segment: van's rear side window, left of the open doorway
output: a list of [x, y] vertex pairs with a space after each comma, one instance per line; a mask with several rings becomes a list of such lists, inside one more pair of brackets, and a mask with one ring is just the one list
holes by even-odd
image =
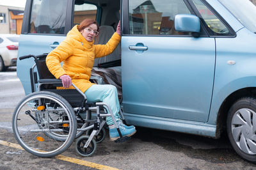
[[64, 34], [67, 0], [34, 0], [29, 33]]

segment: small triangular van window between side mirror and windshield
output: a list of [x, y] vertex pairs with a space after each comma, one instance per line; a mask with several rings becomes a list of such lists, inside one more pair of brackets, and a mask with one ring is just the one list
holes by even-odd
[[193, 0], [193, 3], [211, 31], [216, 35], [229, 33], [223, 22], [201, 0]]

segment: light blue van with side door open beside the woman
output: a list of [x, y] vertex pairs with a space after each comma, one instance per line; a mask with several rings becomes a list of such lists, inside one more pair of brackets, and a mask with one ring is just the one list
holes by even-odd
[[[227, 131], [256, 162], [255, 16], [249, 0], [27, 0], [19, 56], [50, 52], [85, 18], [103, 35], [121, 20], [110, 59], [122, 59], [127, 123], [214, 138]], [[33, 64], [17, 61], [26, 95]]]

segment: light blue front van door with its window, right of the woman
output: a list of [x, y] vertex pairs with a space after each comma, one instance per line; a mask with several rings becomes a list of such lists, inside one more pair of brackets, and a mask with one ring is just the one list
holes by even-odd
[[[201, 31], [177, 32], [174, 17], [194, 14], [186, 1], [124, 0], [122, 106], [129, 123], [156, 116], [206, 122], [214, 80], [215, 42]], [[153, 119], [156, 120], [156, 119]]]

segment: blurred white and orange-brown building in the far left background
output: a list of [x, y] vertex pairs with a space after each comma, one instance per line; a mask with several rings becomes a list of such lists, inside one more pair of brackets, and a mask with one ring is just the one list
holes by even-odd
[[24, 8], [0, 5], [0, 34], [20, 35]]

